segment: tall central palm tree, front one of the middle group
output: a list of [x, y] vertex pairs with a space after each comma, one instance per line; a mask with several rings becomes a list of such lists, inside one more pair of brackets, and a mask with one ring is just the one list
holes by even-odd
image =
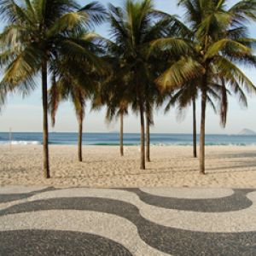
[[111, 53], [119, 55], [121, 69], [126, 71], [127, 94], [133, 96], [131, 103], [140, 116], [140, 167], [145, 169], [145, 96], [147, 84], [151, 81], [148, 52], [151, 43], [165, 34], [170, 17], [155, 10], [151, 0], [126, 0], [124, 9], [109, 5], [108, 20], [114, 41], [114, 45], [110, 47]]

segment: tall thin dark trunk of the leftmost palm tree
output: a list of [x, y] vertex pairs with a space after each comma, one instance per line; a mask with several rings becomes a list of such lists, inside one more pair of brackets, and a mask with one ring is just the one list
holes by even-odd
[[47, 61], [42, 61], [42, 96], [43, 96], [43, 145], [44, 145], [44, 177], [49, 178], [48, 147], [48, 100], [47, 100]]

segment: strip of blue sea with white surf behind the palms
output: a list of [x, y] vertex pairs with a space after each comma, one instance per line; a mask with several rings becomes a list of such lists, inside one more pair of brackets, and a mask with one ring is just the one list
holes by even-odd
[[[77, 143], [77, 133], [57, 132], [49, 133], [49, 143], [57, 145], [74, 145]], [[12, 133], [12, 144], [42, 144], [42, 133], [40, 132], [14, 132]], [[199, 137], [197, 137], [199, 140]], [[9, 143], [9, 133], [0, 132], [0, 144]], [[118, 133], [84, 133], [84, 145], [119, 145]], [[126, 133], [124, 135], [125, 145], [138, 145], [140, 135]], [[192, 145], [191, 134], [151, 134], [153, 145]], [[241, 135], [207, 135], [207, 145], [256, 145], [256, 136]]]

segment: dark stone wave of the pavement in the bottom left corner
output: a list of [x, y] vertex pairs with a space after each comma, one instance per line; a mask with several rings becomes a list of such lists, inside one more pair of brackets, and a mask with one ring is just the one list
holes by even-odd
[[[122, 245], [106, 237], [83, 232], [14, 230], [0, 232], [1, 255], [114, 255], [132, 256]], [[9, 247], [11, 243], [11, 247]], [[56, 244], [58, 247], [56, 247]]]

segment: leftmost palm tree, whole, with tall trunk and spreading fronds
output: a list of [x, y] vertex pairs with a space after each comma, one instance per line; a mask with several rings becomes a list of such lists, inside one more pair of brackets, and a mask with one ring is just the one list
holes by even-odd
[[43, 96], [44, 177], [49, 178], [47, 77], [49, 67], [61, 55], [80, 60], [94, 56], [84, 49], [83, 40], [73, 38], [79, 32], [103, 20], [104, 9], [98, 3], [83, 8], [73, 0], [12, 0], [0, 2], [0, 15], [7, 22], [0, 35], [6, 67], [4, 84], [19, 85], [20, 90], [33, 90], [34, 78], [41, 73]]

